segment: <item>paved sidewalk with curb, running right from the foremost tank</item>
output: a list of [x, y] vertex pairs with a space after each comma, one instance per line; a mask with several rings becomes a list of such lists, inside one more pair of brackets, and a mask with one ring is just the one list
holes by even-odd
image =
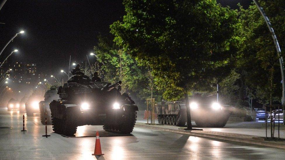
[[[202, 138], [210, 138], [222, 141], [230, 141], [234, 143], [245, 143], [250, 145], [261, 145], [265, 147], [276, 147], [285, 149], [285, 140], [263, 140], [261, 137], [265, 137], [265, 123], [263, 122], [239, 122], [239, 123], [227, 123], [223, 128], [201, 128], [196, 127], [195, 122], [192, 122], [193, 128], [203, 129], [203, 131], [185, 131], [179, 130], [177, 126], [167, 125], [150, 125], [146, 119], [138, 115], [135, 127], [155, 129], [160, 131], [167, 131], [172, 133], [187, 134], [190, 136], [197, 136]], [[150, 120], [149, 120], [150, 123]], [[155, 120], [157, 124], [157, 120]], [[270, 124], [267, 124], [267, 137], [270, 137]], [[278, 138], [278, 124], [275, 123], [274, 136]], [[280, 138], [285, 139], [285, 126], [280, 124], [279, 131]]]

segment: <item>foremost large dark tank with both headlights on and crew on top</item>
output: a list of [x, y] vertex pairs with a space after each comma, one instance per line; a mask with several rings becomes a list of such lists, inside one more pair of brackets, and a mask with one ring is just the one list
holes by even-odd
[[58, 89], [60, 99], [50, 103], [53, 131], [74, 136], [77, 126], [103, 125], [105, 131], [131, 133], [138, 107], [128, 94], [121, 94], [121, 81], [90, 82], [86, 75], [73, 75]]

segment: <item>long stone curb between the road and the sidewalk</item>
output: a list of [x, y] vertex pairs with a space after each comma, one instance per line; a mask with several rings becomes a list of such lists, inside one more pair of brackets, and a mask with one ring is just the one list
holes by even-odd
[[250, 145], [260, 145], [260, 146], [265, 146], [265, 147], [275, 147], [275, 148], [285, 149], [284, 144], [274, 143], [272, 141], [255, 140], [255, 139], [249, 139], [249, 138], [238, 138], [238, 137], [230, 137], [230, 136], [220, 136], [220, 135], [201, 133], [201, 132], [195, 132], [195, 131], [183, 131], [183, 130], [178, 130], [178, 129], [177, 130], [176, 129], [167, 129], [167, 128], [161, 128], [161, 127], [155, 127], [155, 126], [143, 125], [143, 124], [135, 124], [135, 127], [147, 128], [147, 129], [156, 129], [156, 130], [160, 130], [160, 131], [186, 134], [186, 135], [196, 136], [196, 137], [201, 137], [201, 138], [226, 140], [226, 141], [230, 141], [230, 142], [238, 142], [238, 143], [244, 143], [244, 144], [250, 144]]

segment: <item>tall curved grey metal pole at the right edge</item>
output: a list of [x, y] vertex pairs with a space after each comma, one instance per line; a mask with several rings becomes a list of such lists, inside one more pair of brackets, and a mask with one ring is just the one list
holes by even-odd
[[[267, 17], [267, 15], [265, 14], [264, 10], [262, 7], [260, 7], [259, 3], [257, 2], [257, 0], [253, 0], [253, 2], [256, 4], [259, 12], [261, 13], [261, 15], [263, 16], [266, 24], [267, 24], [267, 27], [269, 29], [269, 31], [271, 32], [271, 36], [273, 38], [273, 41], [274, 41], [274, 44], [275, 44], [275, 48], [276, 48], [276, 51], [277, 51], [277, 55], [279, 57], [279, 64], [280, 64], [280, 70], [281, 70], [281, 78], [282, 78], [282, 105], [284, 105], [284, 101], [285, 101], [285, 77], [284, 77], [284, 64], [283, 64], [283, 57], [281, 56], [281, 49], [280, 49], [280, 46], [279, 46], [279, 43], [277, 41], [277, 37], [274, 33], [274, 29], [272, 28], [271, 26], [271, 23], [269, 21], [269, 18]], [[285, 110], [283, 108], [283, 115], [285, 115]], [[285, 125], [284, 121], [283, 121], [283, 124]]]

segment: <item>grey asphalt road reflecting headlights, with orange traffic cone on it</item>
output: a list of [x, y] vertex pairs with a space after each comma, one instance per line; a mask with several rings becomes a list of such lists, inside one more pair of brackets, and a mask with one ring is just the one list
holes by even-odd
[[[11, 128], [8, 128], [11, 127]], [[22, 130], [22, 114], [0, 109], [0, 159], [284, 159], [285, 151], [245, 146], [205, 138], [136, 128], [129, 135], [103, 131], [102, 126], [80, 126], [75, 137], [48, 134], [40, 117], [27, 117]], [[95, 157], [95, 132], [100, 133], [101, 157]]]

